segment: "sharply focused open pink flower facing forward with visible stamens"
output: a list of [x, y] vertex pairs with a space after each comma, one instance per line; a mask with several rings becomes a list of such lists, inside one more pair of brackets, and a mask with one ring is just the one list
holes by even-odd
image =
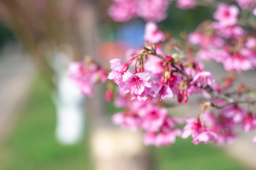
[[136, 74], [124, 72], [124, 84], [121, 89], [124, 92], [130, 92], [130, 94], [140, 95], [144, 92], [145, 87], [152, 87], [148, 82], [149, 79], [149, 72], [138, 72]]

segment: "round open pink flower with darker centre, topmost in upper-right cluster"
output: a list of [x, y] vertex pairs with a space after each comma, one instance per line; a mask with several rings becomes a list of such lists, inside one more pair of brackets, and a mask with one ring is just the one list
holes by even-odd
[[237, 23], [239, 9], [235, 5], [220, 3], [213, 14], [213, 18], [222, 26], [233, 26]]

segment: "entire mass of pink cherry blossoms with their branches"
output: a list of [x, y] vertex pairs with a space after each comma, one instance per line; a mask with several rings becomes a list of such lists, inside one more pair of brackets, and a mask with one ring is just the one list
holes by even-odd
[[[109, 12], [115, 20], [127, 21], [137, 16], [149, 20], [145, 27], [145, 46], [128, 50], [124, 60], [110, 60], [108, 76], [106, 70], [92, 61], [72, 63], [71, 78], [88, 96], [92, 96], [95, 83], [108, 79], [105, 99], [114, 100], [115, 107], [124, 108], [112, 116], [113, 122], [134, 131], [143, 129], [146, 145], [170, 145], [176, 137], [192, 137], [194, 144], [222, 145], [232, 142], [239, 128], [245, 132], [256, 131], [256, 99], [252, 93], [256, 88], [234, 85], [236, 75], [256, 68], [255, 32], [240, 25], [240, 9], [235, 4], [218, 4], [213, 14], [216, 21], [206, 21], [186, 36], [183, 51], [177, 41], [165, 37], [155, 24], [164, 19], [170, 2], [114, 0]], [[241, 9], [253, 10], [256, 6], [254, 0], [236, 2]], [[195, 0], [177, 0], [181, 9], [196, 5]], [[229, 74], [217, 83], [211, 72], [203, 70], [202, 60], [222, 63]], [[168, 98], [176, 98], [182, 104], [193, 94], [204, 98], [197, 118], [182, 120], [168, 113]], [[240, 103], [248, 104], [248, 109]], [[179, 129], [177, 125], [183, 122], [184, 128]], [[256, 137], [253, 141], [256, 142]]]

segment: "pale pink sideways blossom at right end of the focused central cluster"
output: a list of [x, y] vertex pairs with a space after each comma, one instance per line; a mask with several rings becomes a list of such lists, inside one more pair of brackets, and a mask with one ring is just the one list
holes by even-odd
[[193, 81], [191, 81], [191, 85], [195, 84], [198, 87], [207, 87], [207, 85], [211, 85], [214, 82], [213, 75], [210, 72], [202, 71], [198, 72]]

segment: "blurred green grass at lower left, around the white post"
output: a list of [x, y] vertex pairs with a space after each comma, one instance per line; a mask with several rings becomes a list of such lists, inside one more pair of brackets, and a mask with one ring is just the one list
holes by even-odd
[[89, 169], [86, 140], [75, 146], [58, 144], [55, 123], [50, 90], [37, 80], [20, 120], [1, 147], [0, 170]]

